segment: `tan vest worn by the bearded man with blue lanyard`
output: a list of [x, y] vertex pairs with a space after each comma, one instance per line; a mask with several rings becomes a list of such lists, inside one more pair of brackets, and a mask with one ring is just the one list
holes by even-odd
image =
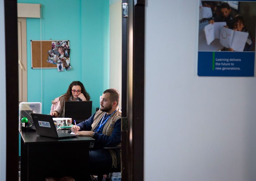
[[[105, 112], [98, 110], [94, 116], [93, 124], [91, 125], [91, 131], [93, 131], [96, 126], [99, 124], [101, 121], [102, 117], [104, 116]], [[117, 109], [117, 111], [109, 118], [109, 120], [105, 123], [103, 127], [102, 134], [105, 134], [107, 136], [111, 136], [112, 131], [114, 129], [115, 123], [118, 119], [122, 117], [122, 111], [120, 109]], [[121, 146], [121, 143], [117, 146]], [[116, 163], [116, 153], [113, 149], [108, 149], [110, 152], [110, 155], [112, 157], [112, 163], [113, 166], [116, 168], [117, 163]]]

